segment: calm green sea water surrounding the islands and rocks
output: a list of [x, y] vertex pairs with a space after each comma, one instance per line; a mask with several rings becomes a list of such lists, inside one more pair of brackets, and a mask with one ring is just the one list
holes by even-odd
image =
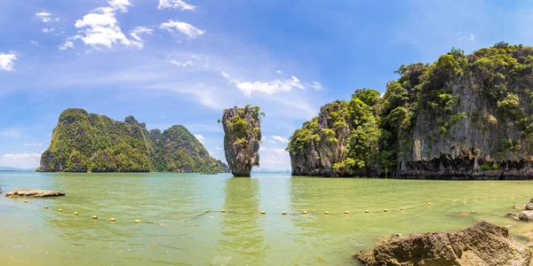
[[[509, 226], [515, 236], [527, 234], [533, 226], [505, 213], [531, 198], [532, 185], [288, 174], [0, 172], [2, 196], [13, 188], [67, 193], [28, 203], [0, 197], [0, 262], [359, 265], [352, 254], [393, 233], [458, 230], [485, 219]], [[302, 215], [304, 210], [310, 214]]]

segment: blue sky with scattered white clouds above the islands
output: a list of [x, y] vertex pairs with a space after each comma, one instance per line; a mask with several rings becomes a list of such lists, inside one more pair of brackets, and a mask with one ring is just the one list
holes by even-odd
[[0, 0], [0, 166], [36, 168], [70, 107], [182, 124], [224, 160], [224, 108], [260, 106], [260, 168], [355, 89], [452, 47], [531, 45], [530, 1]]

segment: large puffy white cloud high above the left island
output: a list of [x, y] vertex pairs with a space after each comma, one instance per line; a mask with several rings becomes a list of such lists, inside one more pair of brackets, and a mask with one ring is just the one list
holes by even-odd
[[[119, 2], [123, 3], [123, 1]], [[109, 3], [111, 4], [111, 2]], [[115, 19], [115, 11], [120, 9], [119, 6], [123, 5], [99, 7], [91, 13], [86, 14], [82, 20], [76, 20], [75, 27], [86, 27], [78, 31], [79, 34], [84, 35], [81, 39], [86, 45], [91, 45], [96, 49], [99, 49], [99, 46], [111, 48], [115, 43], [120, 42], [126, 46], [134, 45], [139, 48], [142, 47], [141, 43], [129, 40], [118, 26], [118, 21]]]

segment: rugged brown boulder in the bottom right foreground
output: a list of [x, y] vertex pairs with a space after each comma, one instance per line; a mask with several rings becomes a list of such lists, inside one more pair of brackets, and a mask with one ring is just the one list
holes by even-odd
[[505, 227], [482, 221], [463, 231], [392, 237], [357, 258], [366, 265], [524, 265], [531, 251]]

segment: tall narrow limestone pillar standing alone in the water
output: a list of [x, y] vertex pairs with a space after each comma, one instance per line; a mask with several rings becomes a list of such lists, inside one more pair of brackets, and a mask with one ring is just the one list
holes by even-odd
[[251, 168], [259, 166], [261, 116], [258, 106], [237, 106], [224, 110], [224, 152], [234, 176], [250, 176]]

